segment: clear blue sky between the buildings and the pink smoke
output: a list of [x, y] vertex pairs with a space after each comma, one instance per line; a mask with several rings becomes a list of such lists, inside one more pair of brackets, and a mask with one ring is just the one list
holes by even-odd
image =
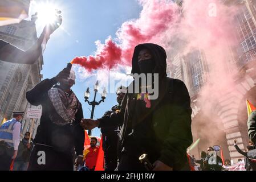
[[[45, 2], [36, 1], [36, 2]], [[105, 42], [108, 36], [115, 38], [115, 33], [121, 24], [127, 20], [139, 18], [142, 7], [137, 0], [54, 0], [52, 2], [62, 10], [64, 30], [59, 28], [51, 35], [44, 51], [43, 79], [54, 77], [66, 67], [75, 56], [94, 55], [95, 41]], [[31, 6], [31, 12], [34, 9]], [[38, 35], [42, 24], [36, 22]], [[93, 99], [93, 85], [96, 77], [76, 81], [72, 90], [83, 105], [84, 118], [90, 118], [91, 106], [84, 102], [84, 92], [91, 89], [90, 101]], [[100, 81], [100, 80], [99, 80]], [[100, 100], [97, 94], [97, 101]], [[95, 108], [95, 117], [100, 118], [105, 111], [116, 105], [116, 95], [108, 94], [105, 102]], [[90, 110], [89, 110], [90, 109]], [[99, 137], [100, 130], [94, 129], [92, 135]]]

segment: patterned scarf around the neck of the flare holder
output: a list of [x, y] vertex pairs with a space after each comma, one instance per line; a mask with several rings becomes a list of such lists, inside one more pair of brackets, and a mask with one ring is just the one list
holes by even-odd
[[56, 110], [56, 113], [53, 112], [49, 116], [51, 121], [60, 126], [67, 125], [67, 123], [72, 125], [79, 103], [75, 94], [72, 92], [68, 95], [60, 88], [51, 88], [48, 90], [48, 97]]

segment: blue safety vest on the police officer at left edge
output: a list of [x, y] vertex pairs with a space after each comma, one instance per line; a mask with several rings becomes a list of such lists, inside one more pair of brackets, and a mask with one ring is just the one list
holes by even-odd
[[10, 147], [14, 147], [13, 127], [16, 122], [19, 122], [19, 121], [13, 118], [3, 123], [3, 125], [0, 127], [0, 141], [2, 140], [5, 141]]

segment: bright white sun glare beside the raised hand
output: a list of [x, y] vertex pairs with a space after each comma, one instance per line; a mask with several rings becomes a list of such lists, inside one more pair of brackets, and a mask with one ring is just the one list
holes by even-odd
[[61, 13], [58, 7], [51, 2], [32, 3], [34, 11], [37, 13], [40, 24], [52, 24], [56, 21], [57, 16]]

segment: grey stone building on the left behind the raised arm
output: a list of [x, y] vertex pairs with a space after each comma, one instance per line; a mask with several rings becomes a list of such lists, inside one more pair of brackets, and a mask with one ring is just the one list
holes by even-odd
[[[0, 27], [0, 39], [5, 40], [23, 50], [29, 49], [36, 42], [35, 19], [22, 20], [17, 24]], [[13, 110], [27, 110], [31, 106], [26, 100], [26, 92], [35, 86], [42, 78], [43, 57], [32, 65], [7, 63], [0, 60], [0, 119], [12, 118]], [[2, 121], [2, 120], [1, 120]], [[32, 138], [35, 137], [39, 119], [35, 120]], [[31, 121], [25, 118], [22, 123], [21, 137], [30, 131]]]

